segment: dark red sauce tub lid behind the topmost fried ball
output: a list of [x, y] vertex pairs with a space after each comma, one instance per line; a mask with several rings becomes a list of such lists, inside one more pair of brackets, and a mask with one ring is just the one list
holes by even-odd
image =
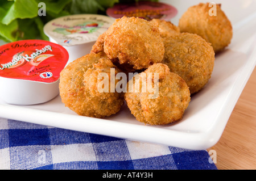
[[170, 20], [177, 15], [177, 9], [166, 3], [139, 1], [135, 3], [118, 3], [106, 11], [106, 14], [113, 18], [122, 18], [122, 16], [135, 16], [147, 20], [164, 19]]

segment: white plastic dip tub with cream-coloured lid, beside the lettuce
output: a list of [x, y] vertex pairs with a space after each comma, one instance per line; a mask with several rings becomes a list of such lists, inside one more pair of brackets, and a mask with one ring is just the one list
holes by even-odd
[[69, 62], [90, 53], [93, 44], [114, 23], [105, 15], [77, 14], [56, 18], [44, 26], [49, 41], [62, 45], [69, 53]]

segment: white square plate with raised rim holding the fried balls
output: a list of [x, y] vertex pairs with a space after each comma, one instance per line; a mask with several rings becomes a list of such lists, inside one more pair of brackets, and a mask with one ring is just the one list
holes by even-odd
[[[207, 1], [162, 2], [177, 8], [178, 14], [172, 19], [177, 25], [189, 6]], [[84, 117], [65, 107], [60, 96], [34, 106], [14, 106], [0, 100], [0, 117], [186, 149], [210, 148], [221, 137], [256, 64], [256, 1], [216, 3], [222, 4], [222, 10], [232, 22], [232, 43], [217, 54], [212, 78], [203, 90], [192, 95], [182, 120], [166, 126], [144, 125], [135, 120], [126, 105], [107, 119]]]

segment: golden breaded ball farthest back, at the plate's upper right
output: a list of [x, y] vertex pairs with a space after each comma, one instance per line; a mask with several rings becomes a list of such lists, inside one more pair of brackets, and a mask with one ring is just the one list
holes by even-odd
[[216, 5], [216, 16], [209, 14], [210, 9], [209, 3], [189, 7], [179, 20], [179, 28], [181, 32], [200, 35], [212, 44], [214, 52], [217, 53], [230, 44], [233, 30], [232, 24], [221, 10], [221, 5]]

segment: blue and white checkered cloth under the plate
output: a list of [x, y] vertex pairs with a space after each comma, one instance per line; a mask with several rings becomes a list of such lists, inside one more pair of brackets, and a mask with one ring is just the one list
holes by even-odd
[[0, 118], [2, 170], [216, 170], [186, 150]]

